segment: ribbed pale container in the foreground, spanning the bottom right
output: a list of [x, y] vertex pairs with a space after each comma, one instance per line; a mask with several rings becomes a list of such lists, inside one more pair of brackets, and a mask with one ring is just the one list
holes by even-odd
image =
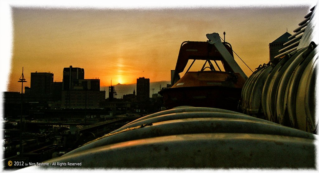
[[46, 163], [81, 163], [81, 168], [315, 168], [314, 139], [311, 133], [238, 112], [183, 106], [141, 117]]

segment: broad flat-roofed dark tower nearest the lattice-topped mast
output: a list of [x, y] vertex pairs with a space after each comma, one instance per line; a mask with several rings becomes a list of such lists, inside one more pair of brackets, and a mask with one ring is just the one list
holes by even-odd
[[31, 73], [30, 94], [48, 97], [53, 90], [53, 73]]

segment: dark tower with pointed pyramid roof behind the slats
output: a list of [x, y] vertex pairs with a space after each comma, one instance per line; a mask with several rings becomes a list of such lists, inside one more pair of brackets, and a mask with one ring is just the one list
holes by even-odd
[[281, 50], [287, 46], [287, 45], [284, 46], [283, 44], [290, 40], [288, 38], [290, 36], [291, 36], [291, 34], [286, 32], [285, 34], [281, 35], [273, 42], [269, 43], [269, 61], [272, 61], [274, 59], [274, 57], [276, 57], [277, 55], [280, 54], [278, 52], [279, 50]]

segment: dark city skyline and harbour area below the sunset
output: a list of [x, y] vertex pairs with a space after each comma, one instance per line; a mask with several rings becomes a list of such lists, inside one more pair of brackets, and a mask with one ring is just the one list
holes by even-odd
[[148, 78], [137, 78], [132, 94], [117, 98], [115, 86], [111, 84], [107, 93], [100, 90], [100, 79], [85, 79], [84, 73], [83, 68], [65, 67], [63, 81], [53, 82], [53, 73], [36, 71], [31, 79], [23, 77], [22, 87], [24, 82], [30, 83], [24, 93], [4, 92], [4, 158], [5, 162], [21, 163], [5, 169], [62, 156], [163, 109], [159, 94], [150, 98]]

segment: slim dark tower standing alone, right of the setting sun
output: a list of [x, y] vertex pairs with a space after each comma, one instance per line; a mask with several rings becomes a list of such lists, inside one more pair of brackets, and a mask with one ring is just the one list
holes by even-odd
[[150, 99], [150, 79], [139, 77], [136, 82], [136, 98], [138, 102]]

